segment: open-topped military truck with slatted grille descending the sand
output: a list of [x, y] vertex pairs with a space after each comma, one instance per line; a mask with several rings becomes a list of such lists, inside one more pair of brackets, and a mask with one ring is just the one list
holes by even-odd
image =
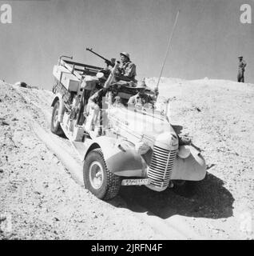
[[[112, 66], [82, 64], [67, 56], [54, 66], [51, 131], [65, 134], [77, 150], [83, 161], [85, 188], [97, 198], [109, 200], [121, 186], [147, 186], [161, 192], [174, 181], [202, 180], [204, 158], [193, 146], [180, 145], [167, 113], [169, 101], [128, 107], [128, 99], [141, 87], [117, 77], [117, 62]], [[121, 98], [121, 104], [105, 97], [96, 134], [89, 97], [98, 85], [109, 86], [109, 94]], [[153, 90], [147, 88], [146, 93], [153, 94]]]

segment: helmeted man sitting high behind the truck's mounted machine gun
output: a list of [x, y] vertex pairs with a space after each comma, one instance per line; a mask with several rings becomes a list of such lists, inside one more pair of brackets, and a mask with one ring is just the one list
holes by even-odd
[[121, 66], [120, 73], [122, 76], [129, 78], [131, 81], [136, 81], [136, 65], [130, 61], [129, 54], [126, 52], [122, 52], [121, 56]]

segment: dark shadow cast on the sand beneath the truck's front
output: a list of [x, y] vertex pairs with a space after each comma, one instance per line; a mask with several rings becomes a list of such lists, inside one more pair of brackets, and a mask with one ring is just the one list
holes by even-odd
[[[123, 200], [122, 200], [123, 199]], [[113, 199], [113, 206], [134, 212], [147, 212], [159, 218], [182, 215], [195, 218], [228, 218], [232, 216], [232, 194], [224, 188], [220, 178], [207, 173], [203, 181], [187, 182], [163, 192], [145, 186], [122, 186], [120, 197]]]

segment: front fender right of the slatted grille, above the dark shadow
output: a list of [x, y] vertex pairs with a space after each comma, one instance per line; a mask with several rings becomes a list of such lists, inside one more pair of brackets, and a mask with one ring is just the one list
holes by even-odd
[[191, 154], [188, 158], [177, 156], [174, 162], [171, 179], [185, 181], [200, 181], [206, 174], [206, 164], [200, 152], [190, 147]]

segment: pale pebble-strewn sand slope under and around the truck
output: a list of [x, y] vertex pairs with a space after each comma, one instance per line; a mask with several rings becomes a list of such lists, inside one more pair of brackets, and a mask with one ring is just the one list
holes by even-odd
[[203, 150], [207, 177], [162, 193], [123, 187], [102, 202], [38, 138], [39, 126], [81, 166], [69, 142], [50, 134], [53, 94], [0, 82], [0, 238], [253, 238], [254, 86], [163, 78], [160, 93], [171, 98], [173, 124]]

